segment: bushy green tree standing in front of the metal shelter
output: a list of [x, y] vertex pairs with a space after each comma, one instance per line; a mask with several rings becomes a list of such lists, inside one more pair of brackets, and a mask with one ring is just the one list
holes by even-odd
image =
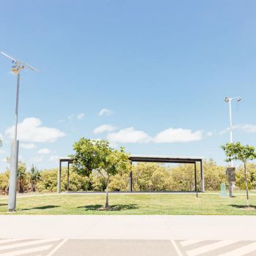
[[121, 148], [120, 151], [110, 148], [106, 140], [89, 140], [81, 138], [73, 146], [75, 154], [71, 155], [74, 170], [87, 176], [95, 170], [105, 180], [106, 202], [108, 204], [108, 188], [110, 178], [117, 173], [129, 170], [129, 155]]

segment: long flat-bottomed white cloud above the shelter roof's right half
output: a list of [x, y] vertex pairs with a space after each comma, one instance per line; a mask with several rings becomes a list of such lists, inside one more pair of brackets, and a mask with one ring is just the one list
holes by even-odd
[[169, 128], [159, 132], [154, 138], [156, 143], [177, 143], [177, 142], [190, 142], [201, 140], [203, 138], [203, 131], [197, 130], [192, 132], [191, 129], [182, 128]]

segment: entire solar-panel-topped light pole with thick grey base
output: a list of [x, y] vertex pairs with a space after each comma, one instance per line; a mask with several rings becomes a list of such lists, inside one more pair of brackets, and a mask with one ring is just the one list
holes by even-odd
[[17, 127], [18, 127], [18, 104], [19, 104], [19, 91], [20, 91], [20, 70], [24, 67], [34, 69], [28, 64], [14, 59], [6, 53], [0, 52], [2, 55], [12, 60], [12, 72], [17, 75], [17, 88], [16, 88], [16, 108], [15, 108], [15, 133], [14, 140], [12, 140], [11, 147], [11, 162], [10, 162], [10, 178], [9, 178], [9, 198], [8, 198], [8, 211], [15, 211], [16, 208], [16, 190], [17, 190], [17, 176], [18, 176], [18, 151], [19, 141], [17, 140]]

